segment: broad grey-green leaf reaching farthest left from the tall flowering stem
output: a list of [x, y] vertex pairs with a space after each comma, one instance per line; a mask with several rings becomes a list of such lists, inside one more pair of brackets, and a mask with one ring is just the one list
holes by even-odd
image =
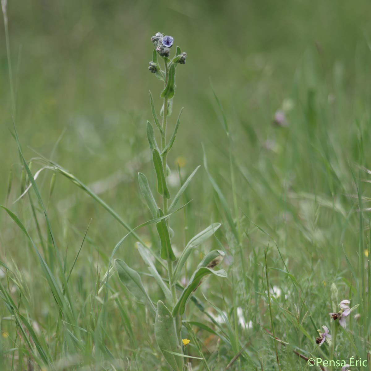
[[148, 296], [138, 273], [120, 259], [115, 259], [115, 266], [121, 282], [128, 291], [135, 296], [139, 303], [145, 304], [148, 302], [150, 304], [150, 309], [156, 312], [156, 308]]

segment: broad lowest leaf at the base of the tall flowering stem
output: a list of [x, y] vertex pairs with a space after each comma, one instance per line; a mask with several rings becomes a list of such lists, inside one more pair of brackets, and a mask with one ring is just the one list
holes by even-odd
[[164, 358], [175, 371], [182, 370], [182, 359], [172, 353], [180, 353], [181, 348], [175, 329], [174, 318], [164, 303], [157, 302], [157, 313], [155, 318], [155, 338]]

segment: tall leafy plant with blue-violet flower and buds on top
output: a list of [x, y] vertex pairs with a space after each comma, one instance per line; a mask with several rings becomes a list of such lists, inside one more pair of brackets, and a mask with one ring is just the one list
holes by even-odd
[[[161, 93], [163, 98], [163, 104], [160, 111], [160, 119], [156, 113], [155, 104], [150, 93], [150, 103], [152, 116], [154, 119], [155, 127], [160, 135], [160, 147], [157, 145], [155, 139], [154, 129], [149, 121], [147, 121], [147, 137], [150, 145], [152, 154], [153, 164], [155, 173], [157, 176], [157, 191], [161, 195], [161, 207], [158, 206], [155, 197], [151, 191], [150, 185], [144, 174], [138, 173], [138, 181], [141, 193], [147, 203], [148, 209], [150, 210], [154, 219], [164, 217], [156, 223], [160, 242], [160, 256], [155, 256], [162, 265], [167, 269], [168, 277], [163, 278], [158, 273], [154, 263], [148, 255], [148, 249], [143, 246], [140, 242], [137, 243], [138, 252], [142, 259], [148, 266], [153, 278], [160, 286], [163, 294], [164, 301], [159, 300], [155, 305], [148, 293], [146, 292], [139, 274], [128, 267], [128, 265], [122, 260], [116, 259], [115, 265], [118, 270], [119, 278], [126, 288], [135, 296], [138, 302], [148, 305], [150, 310], [155, 315], [154, 332], [155, 338], [159, 348], [161, 349], [164, 358], [173, 370], [183, 369], [183, 354], [181, 352], [181, 326], [182, 316], [185, 311], [188, 299], [193, 295], [193, 292], [201, 284], [205, 276], [214, 274], [219, 277], [226, 277], [226, 272], [221, 270], [213, 270], [223, 259], [224, 253], [220, 250], [213, 250], [204, 256], [203, 260], [198, 264], [193, 275], [189, 279], [188, 285], [182, 290], [180, 295], [177, 295], [176, 286], [180, 279], [182, 270], [185, 266], [190, 253], [193, 249], [210, 236], [220, 227], [219, 223], [213, 223], [202, 232], [194, 236], [185, 246], [181, 255], [177, 257], [174, 255], [171, 239], [174, 237], [174, 232], [170, 228], [169, 219], [171, 214], [175, 211], [178, 201], [180, 200], [183, 192], [190, 183], [193, 175], [198, 170], [199, 166], [191, 173], [187, 180], [180, 187], [177, 194], [173, 197], [170, 205], [169, 200], [171, 199], [170, 192], [167, 186], [167, 176], [170, 174], [170, 168], [167, 165], [167, 155], [173, 147], [175, 136], [177, 135], [178, 127], [180, 124], [180, 114], [175, 123], [173, 134], [170, 139], [167, 137], [167, 120], [168, 116], [171, 115], [173, 107], [173, 97], [175, 93], [175, 69], [179, 64], [185, 63], [186, 53], [181, 52], [179, 46], [176, 48], [175, 56], [170, 59], [170, 50], [173, 46], [173, 37], [164, 36], [158, 32], [155, 36], [152, 36], [151, 41], [153, 42], [155, 49], [153, 50], [152, 61], [149, 65], [150, 72], [154, 73], [155, 76], [164, 83], [164, 89]], [[159, 60], [163, 61], [164, 69], [161, 69]], [[206, 362], [203, 359], [204, 362]]]

